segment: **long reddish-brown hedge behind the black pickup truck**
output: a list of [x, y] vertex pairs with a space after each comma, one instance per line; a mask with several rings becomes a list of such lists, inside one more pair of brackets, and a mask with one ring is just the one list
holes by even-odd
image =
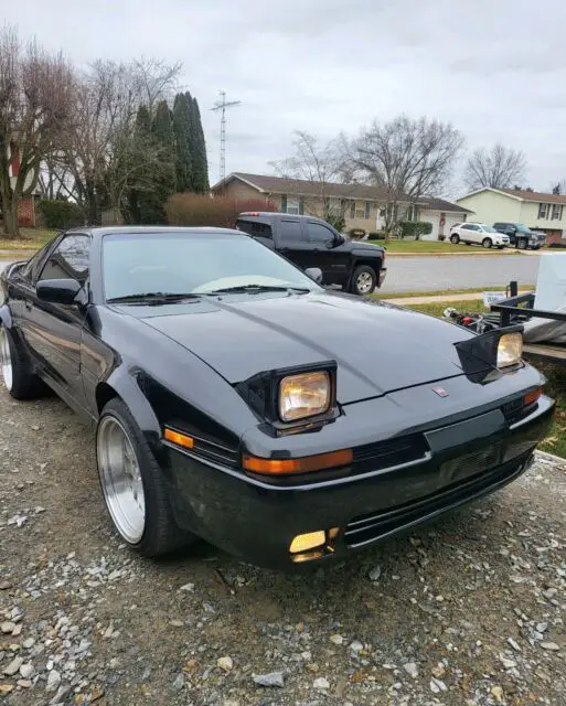
[[276, 211], [264, 199], [228, 199], [206, 194], [173, 194], [165, 204], [167, 222], [171, 225], [233, 228], [243, 211]]

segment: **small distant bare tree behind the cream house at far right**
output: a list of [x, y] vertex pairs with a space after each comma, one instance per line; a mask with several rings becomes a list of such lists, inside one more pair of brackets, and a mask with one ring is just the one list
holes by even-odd
[[524, 180], [526, 159], [523, 152], [505, 147], [501, 142], [491, 150], [479, 148], [468, 159], [463, 181], [471, 189], [511, 189]]

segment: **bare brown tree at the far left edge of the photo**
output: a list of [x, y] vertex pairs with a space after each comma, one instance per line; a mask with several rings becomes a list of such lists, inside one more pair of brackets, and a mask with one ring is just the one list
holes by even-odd
[[34, 192], [42, 160], [71, 128], [74, 90], [61, 54], [35, 41], [22, 46], [15, 29], [0, 30], [0, 192], [4, 232], [13, 237], [20, 237], [19, 203]]

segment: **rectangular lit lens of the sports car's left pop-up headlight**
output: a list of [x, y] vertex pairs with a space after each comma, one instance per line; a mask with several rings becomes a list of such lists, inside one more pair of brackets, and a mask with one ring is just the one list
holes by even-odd
[[288, 375], [279, 383], [279, 417], [284, 421], [323, 414], [330, 400], [330, 375], [325, 371]]

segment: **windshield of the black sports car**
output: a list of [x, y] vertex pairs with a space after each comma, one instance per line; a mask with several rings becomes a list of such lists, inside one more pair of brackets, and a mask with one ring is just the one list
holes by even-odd
[[206, 295], [218, 289], [321, 288], [264, 245], [229, 233], [107, 235], [103, 244], [106, 299], [135, 295]]

